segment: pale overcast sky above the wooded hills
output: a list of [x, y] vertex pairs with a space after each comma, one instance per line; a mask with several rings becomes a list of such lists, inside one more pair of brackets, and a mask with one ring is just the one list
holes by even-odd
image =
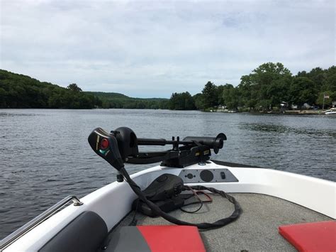
[[334, 0], [0, 2], [0, 68], [63, 87], [168, 98], [335, 65]]

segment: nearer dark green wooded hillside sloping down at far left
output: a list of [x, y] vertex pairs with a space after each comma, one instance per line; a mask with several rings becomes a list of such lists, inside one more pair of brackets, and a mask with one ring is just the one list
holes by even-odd
[[0, 108], [92, 109], [101, 106], [97, 97], [81, 91], [77, 84], [64, 88], [0, 70]]

